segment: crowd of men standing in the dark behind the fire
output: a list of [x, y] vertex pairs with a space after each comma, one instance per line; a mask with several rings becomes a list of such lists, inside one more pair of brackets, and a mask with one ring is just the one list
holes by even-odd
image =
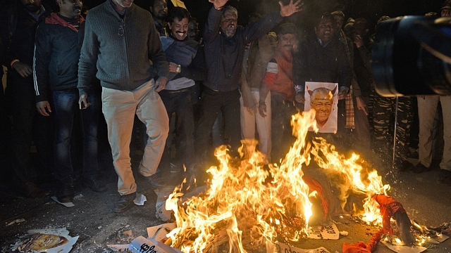
[[[0, 137], [1, 153], [10, 161], [4, 169], [13, 171], [8, 180], [26, 197], [48, 195], [31, 174], [39, 164], [39, 174], [54, 178], [58, 202], [72, 202], [78, 182], [104, 192], [97, 156], [99, 141], [106, 141], [99, 133], [106, 131], [120, 195], [113, 210], [124, 212], [137, 190], [130, 143], [142, 144], [138, 174], [154, 188], [166, 185], [171, 170], [184, 168], [189, 180], [202, 179], [219, 144], [239, 157], [242, 140], [257, 139], [265, 163], [278, 163], [293, 141], [291, 115], [304, 110], [307, 93], [318, 126], [333, 124], [328, 117], [333, 97], [338, 98], [337, 131], [307, 138], [321, 136], [366, 158], [371, 152], [391, 156], [387, 147], [397, 111], [395, 168], [416, 173], [433, 169], [433, 122], [440, 102], [440, 182], [451, 184], [450, 97], [379, 96], [365, 18], [345, 23], [342, 11], [321, 13], [301, 32], [309, 26], [287, 18], [302, 11], [303, 3], [291, 0], [280, 2], [274, 13], [250, 16], [243, 27], [228, 0], [209, 2], [203, 34], [186, 8], [168, 8], [167, 0], [151, 1], [149, 10], [133, 1], [106, 0], [86, 16], [80, 0], [56, 0], [53, 13], [41, 0], [17, 0], [4, 8], [0, 53], [8, 74], [0, 102], [11, 110], [0, 111]], [[440, 14], [450, 10], [448, 0]], [[309, 91], [306, 82], [337, 88]], [[407, 161], [415, 99], [416, 166]], [[81, 129], [77, 154], [71, 146], [77, 142], [74, 129]], [[220, 141], [214, 141], [218, 133]], [[38, 162], [30, 156], [32, 146]], [[82, 161], [81, 176], [74, 157]]]

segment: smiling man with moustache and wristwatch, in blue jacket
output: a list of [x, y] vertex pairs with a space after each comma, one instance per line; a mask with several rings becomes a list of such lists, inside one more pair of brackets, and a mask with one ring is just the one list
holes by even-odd
[[[197, 41], [187, 37], [191, 14], [185, 8], [174, 7], [169, 11], [168, 23], [171, 34], [160, 37], [166, 60], [169, 64], [169, 81], [160, 91], [161, 100], [168, 112], [168, 117], [175, 112], [178, 127], [176, 129], [183, 153], [181, 164], [189, 171], [194, 163], [194, 116], [192, 112], [192, 87], [195, 81], [205, 77], [205, 60], [203, 48]], [[169, 167], [170, 154], [165, 148], [161, 163]]]

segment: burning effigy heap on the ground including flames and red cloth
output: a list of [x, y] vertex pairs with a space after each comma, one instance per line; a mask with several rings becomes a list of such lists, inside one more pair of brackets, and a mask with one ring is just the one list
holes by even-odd
[[[182, 252], [267, 252], [268, 245], [306, 238], [312, 217], [330, 221], [332, 214], [345, 212], [381, 230], [368, 244], [343, 245], [343, 252], [356, 252], [355, 247], [371, 252], [383, 234], [393, 235], [391, 218], [400, 226], [400, 240], [412, 245], [412, 223], [375, 169], [359, 155], [345, 158], [323, 138], [307, 141], [308, 129], [316, 128], [314, 117], [313, 110], [292, 116], [296, 141], [279, 165], [264, 166], [257, 141], [243, 141], [240, 160], [230, 157], [226, 146], [217, 148], [219, 165], [207, 170], [211, 181], [204, 193], [180, 205], [183, 193], [176, 188], [166, 200], [176, 223], [166, 244]], [[304, 174], [312, 158], [320, 173]], [[331, 196], [330, 187], [338, 194]], [[359, 201], [348, 201], [351, 195]]]

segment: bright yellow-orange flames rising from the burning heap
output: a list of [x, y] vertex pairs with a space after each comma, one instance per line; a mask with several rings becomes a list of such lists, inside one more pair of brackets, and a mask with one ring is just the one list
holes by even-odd
[[381, 223], [378, 203], [371, 197], [386, 195], [390, 187], [383, 185], [376, 171], [362, 166], [358, 155], [345, 159], [323, 138], [307, 143], [307, 131], [316, 129], [314, 123], [314, 111], [292, 116], [297, 139], [280, 166], [270, 164], [269, 169], [264, 169], [265, 157], [256, 150], [257, 141], [243, 141], [240, 161], [233, 160], [225, 146], [217, 148], [220, 164], [207, 170], [212, 179], [206, 192], [179, 205], [183, 193], [176, 189], [166, 201], [177, 224], [169, 234], [172, 247], [215, 252], [228, 245], [229, 252], [247, 252], [278, 240], [303, 238], [312, 216], [309, 197], [314, 193], [302, 179], [302, 164], [308, 165], [311, 155], [319, 167], [344, 175], [349, 190], [339, 197], [342, 205], [350, 192], [366, 195], [365, 221]]

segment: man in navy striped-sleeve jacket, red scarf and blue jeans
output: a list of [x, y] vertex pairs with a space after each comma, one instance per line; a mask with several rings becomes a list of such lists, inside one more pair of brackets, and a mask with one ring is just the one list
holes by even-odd
[[104, 192], [106, 188], [96, 179], [100, 110], [97, 87], [91, 87], [83, 95], [88, 101], [86, 106], [78, 105], [79, 28], [85, 22], [80, 15], [82, 3], [80, 0], [57, 0], [56, 3], [59, 12], [49, 15], [37, 28], [33, 75], [37, 111], [45, 117], [54, 113], [56, 198], [63, 203], [72, 202], [74, 196], [70, 139], [75, 115], [79, 112], [83, 129], [83, 183], [96, 192]]

